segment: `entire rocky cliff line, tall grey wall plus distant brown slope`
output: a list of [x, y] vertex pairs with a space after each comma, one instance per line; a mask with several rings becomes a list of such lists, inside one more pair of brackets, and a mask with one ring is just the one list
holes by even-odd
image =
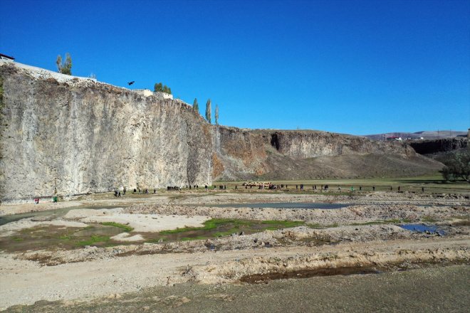
[[0, 63], [0, 201], [211, 184], [427, 174], [407, 144], [209, 125], [179, 100]]

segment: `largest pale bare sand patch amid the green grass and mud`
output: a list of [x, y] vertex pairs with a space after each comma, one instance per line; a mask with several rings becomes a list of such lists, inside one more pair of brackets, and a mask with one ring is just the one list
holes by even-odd
[[[92, 210], [94, 211], [94, 210]], [[128, 225], [136, 232], [159, 232], [184, 227], [202, 227], [209, 216], [164, 216], [160, 214], [112, 213], [105, 216], [88, 216], [83, 223], [115, 222]]]

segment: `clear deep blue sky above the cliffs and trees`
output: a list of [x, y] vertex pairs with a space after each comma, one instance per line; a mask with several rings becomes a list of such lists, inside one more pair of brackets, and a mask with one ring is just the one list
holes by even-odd
[[[470, 127], [470, 1], [2, 0], [0, 53], [127, 87], [162, 82], [219, 124], [349, 134]], [[214, 120], [214, 119], [213, 119]]]

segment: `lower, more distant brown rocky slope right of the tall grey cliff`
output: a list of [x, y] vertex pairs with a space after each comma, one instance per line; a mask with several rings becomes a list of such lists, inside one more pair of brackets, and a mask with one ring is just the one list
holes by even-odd
[[214, 179], [322, 179], [417, 176], [442, 164], [403, 142], [306, 130], [216, 127], [221, 166]]

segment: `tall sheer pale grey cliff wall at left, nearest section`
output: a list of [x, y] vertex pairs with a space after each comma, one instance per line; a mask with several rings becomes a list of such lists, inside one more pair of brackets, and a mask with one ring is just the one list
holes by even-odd
[[178, 100], [0, 66], [0, 200], [211, 183], [211, 129]]

